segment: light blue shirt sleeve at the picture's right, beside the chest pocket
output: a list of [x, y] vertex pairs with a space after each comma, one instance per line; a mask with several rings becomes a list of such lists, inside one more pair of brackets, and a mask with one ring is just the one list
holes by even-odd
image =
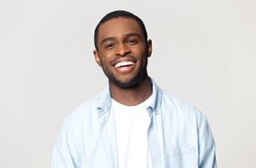
[[199, 168], [217, 168], [215, 142], [208, 121], [202, 118], [198, 130]]

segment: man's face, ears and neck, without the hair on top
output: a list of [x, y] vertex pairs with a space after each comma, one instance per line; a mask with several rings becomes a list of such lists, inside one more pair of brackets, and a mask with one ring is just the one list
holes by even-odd
[[103, 23], [97, 47], [93, 54], [109, 79], [112, 99], [134, 106], [150, 97], [152, 87], [146, 66], [152, 42], [144, 40], [133, 18], [117, 17]]

